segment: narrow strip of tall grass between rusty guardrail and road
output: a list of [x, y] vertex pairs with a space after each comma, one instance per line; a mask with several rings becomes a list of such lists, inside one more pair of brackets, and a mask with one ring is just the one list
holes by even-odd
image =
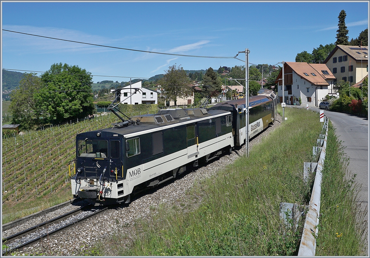
[[353, 256], [363, 253], [366, 212], [357, 202], [356, 176], [348, 179], [349, 159], [329, 124], [326, 158], [323, 167], [320, 225], [316, 255]]

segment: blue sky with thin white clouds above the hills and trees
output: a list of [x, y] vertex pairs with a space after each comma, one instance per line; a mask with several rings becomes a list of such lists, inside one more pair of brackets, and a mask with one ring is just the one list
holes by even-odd
[[[173, 54], [233, 57], [250, 50], [252, 64], [295, 61], [336, 41], [346, 11], [349, 39], [368, 28], [368, 2], [2, 2], [2, 29], [65, 40]], [[129, 81], [170, 65], [207, 69], [243, 65], [234, 58], [160, 55], [1, 32], [1, 67], [47, 71], [78, 65], [93, 81]], [[245, 55], [238, 58], [244, 60]], [[120, 78], [129, 77], [129, 78]]]

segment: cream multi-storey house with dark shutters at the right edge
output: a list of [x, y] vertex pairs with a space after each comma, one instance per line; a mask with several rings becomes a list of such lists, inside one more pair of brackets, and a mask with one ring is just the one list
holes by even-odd
[[336, 81], [357, 84], [369, 71], [368, 65], [369, 47], [336, 45], [324, 64], [332, 71]]

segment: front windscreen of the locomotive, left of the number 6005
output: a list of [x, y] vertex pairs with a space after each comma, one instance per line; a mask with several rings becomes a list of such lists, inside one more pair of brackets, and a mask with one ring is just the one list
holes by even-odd
[[108, 154], [108, 141], [106, 140], [78, 140], [79, 157], [106, 158]]

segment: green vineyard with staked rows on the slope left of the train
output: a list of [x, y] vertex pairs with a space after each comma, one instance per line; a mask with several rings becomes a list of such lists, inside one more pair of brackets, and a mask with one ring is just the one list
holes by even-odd
[[[149, 107], [145, 110], [145, 107], [132, 110], [127, 114], [131, 117], [149, 111], [156, 113], [157, 105], [146, 106], [152, 107], [150, 110]], [[74, 160], [76, 155], [75, 136], [81, 132], [108, 128], [115, 122], [119, 122], [117, 116], [109, 114], [92, 120], [50, 125], [36, 132], [27, 131], [24, 135], [15, 134], [3, 139], [3, 223], [7, 221], [4, 220], [4, 215], [7, 215], [4, 211], [15, 213], [12, 207], [17, 203], [35, 200], [36, 203], [42, 203], [53, 195], [65, 196], [65, 200], [70, 199], [70, 173], [71, 176], [74, 175], [74, 164], [71, 160]], [[11, 219], [14, 219], [14, 216]]]

